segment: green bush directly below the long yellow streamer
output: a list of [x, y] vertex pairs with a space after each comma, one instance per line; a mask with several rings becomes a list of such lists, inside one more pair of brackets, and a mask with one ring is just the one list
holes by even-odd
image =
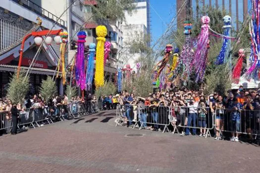
[[95, 90], [95, 94], [97, 95], [97, 98], [100, 96], [108, 96], [110, 94], [115, 94], [116, 87], [112, 82], [105, 82], [103, 87], [98, 87]]

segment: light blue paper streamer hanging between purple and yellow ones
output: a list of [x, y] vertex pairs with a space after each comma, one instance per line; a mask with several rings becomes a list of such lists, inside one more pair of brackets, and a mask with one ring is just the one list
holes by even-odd
[[87, 72], [86, 72], [86, 90], [91, 90], [93, 78], [94, 78], [94, 67], [95, 67], [95, 50], [96, 44], [90, 43], [89, 44], [89, 59], [87, 65]]

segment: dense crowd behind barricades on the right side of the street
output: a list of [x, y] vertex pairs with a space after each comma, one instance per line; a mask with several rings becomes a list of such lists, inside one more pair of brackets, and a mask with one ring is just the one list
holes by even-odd
[[182, 136], [206, 136], [206, 129], [212, 129], [215, 139], [230, 135], [231, 141], [239, 141], [241, 133], [253, 140], [252, 134], [260, 132], [260, 91], [243, 86], [227, 95], [213, 92], [208, 96], [203, 90], [187, 88], [150, 93], [146, 98], [123, 91], [117, 99], [126, 127], [139, 122], [139, 127], [160, 131], [167, 125], [177, 127]]

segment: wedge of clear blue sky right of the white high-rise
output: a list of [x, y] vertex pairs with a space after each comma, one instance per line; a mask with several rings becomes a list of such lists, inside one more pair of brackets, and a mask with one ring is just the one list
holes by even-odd
[[150, 0], [152, 45], [176, 15], [176, 0]]

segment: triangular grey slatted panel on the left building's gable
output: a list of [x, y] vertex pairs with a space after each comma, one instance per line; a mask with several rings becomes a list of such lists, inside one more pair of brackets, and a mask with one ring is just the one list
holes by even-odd
[[27, 32], [28, 30], [25, 28], [0, 19], [0, 50], [17, 42], [26, 35]]

